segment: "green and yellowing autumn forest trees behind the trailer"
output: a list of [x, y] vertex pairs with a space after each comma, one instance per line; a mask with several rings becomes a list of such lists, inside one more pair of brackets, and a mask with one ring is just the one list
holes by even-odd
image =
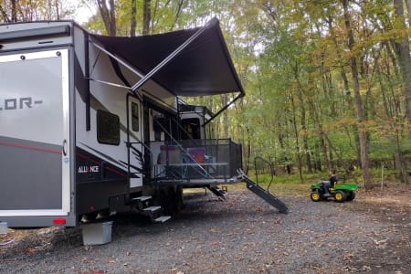
[[[64, 3], [64, 4], [63, 4]], [[83, 0], [83, 26], [138, 36], [204, 25], [216, 16], [247, 96], [219, 119], [221, 137], [253, 158], [300, 174], [385, 165], [409, 182], [410, 0]], [[4, 0], [0, 21], [67, 19], [62, 0]], [[205, 101], [207, 100], [207, 101]], [[212, 109], [227, 96], [200, 98]], [[216, 111], [216, 110], [215, 110]], [[302, 180], [302, 176], [301, 176]]]

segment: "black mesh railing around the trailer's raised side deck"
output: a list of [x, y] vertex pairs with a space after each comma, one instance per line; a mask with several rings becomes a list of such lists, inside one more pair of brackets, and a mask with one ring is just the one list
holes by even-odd
[[230, 139], [151, 142], [155, 183], [227, 184], [237, 182], [241, 145]]

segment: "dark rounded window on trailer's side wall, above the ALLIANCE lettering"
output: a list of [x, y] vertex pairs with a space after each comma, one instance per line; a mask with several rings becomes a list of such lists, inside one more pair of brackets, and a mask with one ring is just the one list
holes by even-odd
[[106, 144], [120, 144], [120, 118], [108, 111], [97, 111], [97, 140]]

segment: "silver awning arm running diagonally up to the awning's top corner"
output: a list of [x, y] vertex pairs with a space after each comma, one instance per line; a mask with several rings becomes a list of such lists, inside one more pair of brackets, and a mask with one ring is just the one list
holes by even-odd
[[209, 28], [210, 26], [214, 26], [216, 24], [218, 24], [218, 20], [216, 18], [213, 18], [210, 21], [208, 21], [208, 23], [205, 24], [205, 26], [198, 29], [193, 36], [185, 40], [184, 43], [180, 47], [177, 47], [168, 57], [164, 58], [163, 61], [161, 61], [157, 66], [155, 66], [155, 68], [153, 68], [142, 79], [140, 79], [137, 83], [135, 83], [135, 85], [132, 86], [132, 92], [135, 92], [135, 90], [140, 89], [142, 85], [145, 82], [147, 82], [149, 79], [151, 79], [155, 73], [157, 73], [160, 69], [162, 69], [165, 65], [167, 65], [177, 55], [179, 55], [184, 50], [185, 47], [190, 45], [190, 43], [193, 42], [196, 37], [199, 37], [203, 32], [205, 32], [207, 28]]

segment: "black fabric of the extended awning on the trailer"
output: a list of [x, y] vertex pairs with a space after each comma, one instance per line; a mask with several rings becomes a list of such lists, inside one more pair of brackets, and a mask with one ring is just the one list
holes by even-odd
[[[152, 36], [105, 37], [92, 35], [100, 46], [147, 74], [200, 28]], [[244, 90], [229, 56], [218, 20], [209, 24], [153, 80], [176, 96], [205, 96]]]

